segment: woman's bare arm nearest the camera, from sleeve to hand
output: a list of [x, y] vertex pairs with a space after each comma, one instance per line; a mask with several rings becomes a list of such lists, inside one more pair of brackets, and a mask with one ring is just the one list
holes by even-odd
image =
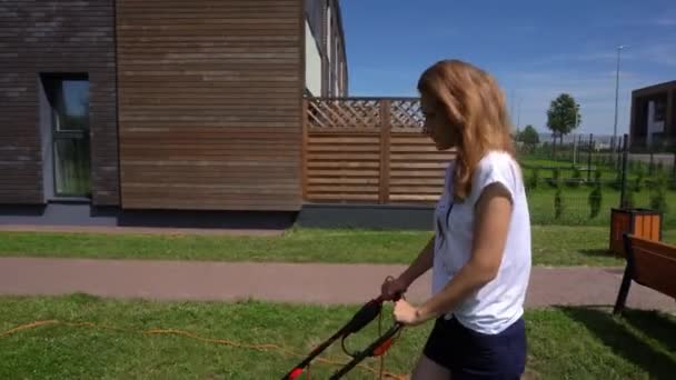
[[441, 291], [420, 307], [399, 302], [399, 310], [395, 310], [397, 320], [418, 324], [437, 318], [495, 279], [507, 241], [511, 208], [509, 192], [501, 184], [486, 187], [476, 204], [475, 236], [469, 260]]

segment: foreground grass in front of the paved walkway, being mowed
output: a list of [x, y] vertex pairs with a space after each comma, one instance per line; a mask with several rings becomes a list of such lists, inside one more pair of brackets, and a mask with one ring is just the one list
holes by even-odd
[[[180, 329], [239, 343], [281, 344], [305, 356], [355, 311], [351, 306], [112, 301], [81, 294], [4, 297], [0, 298], [0, 334], [37, 320], [92, 322], [122, 330], [51, 324], [0, 336], [0, 378], [275, 379], [300, 358], [279, 350], [257, 351], [138, 331]], [[559, 308], [527, 310], [525, 319], [533, 378], [669, 378], [676, 366], [676, 319], [666, 314], [629, 310], [624, 318], [614, 318], [606, 310]], [[387, 371], [410, 370], [430, 324], [402, 331], [385, 359]], [[386, 317], [384, 329], [388, 326]], [[365, 347], [376, 337], [376, 327], [374, 322], [350, 337], [347, 347]], [[339, 362], [348, 359], [340, 342], [324, 357]], [[372, 359], [362, 363], [377, 368]], [[312, 377], [326, 379], [336, 369], [315, 363]], [[356, 368], [346, 379], [375, 377]]]

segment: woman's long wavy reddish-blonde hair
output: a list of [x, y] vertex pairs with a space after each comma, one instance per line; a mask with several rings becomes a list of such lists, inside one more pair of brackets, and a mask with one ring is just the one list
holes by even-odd
[[490, 150], [515, 156], [505, 97], [489, 73], [459, 60], [439, 61], [422, 72], [418, 91], [436, 101], [447, 127], [458, 126], [454, 198], [471, 192], [471, 179]]

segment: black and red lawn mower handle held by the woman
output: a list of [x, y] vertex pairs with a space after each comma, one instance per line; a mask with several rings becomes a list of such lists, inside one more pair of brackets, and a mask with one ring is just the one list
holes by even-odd
[[[400, 299], [401, 296], [397, 294], [395, 297], [395, 301]], [[352, 319], [347, 322], [338, 332], [331, 336], [329, 339], [324, 341], [321, 344], [317, 346], [300, 363], [294, 367], [287, 374], [285, 374], [282, 380], [295, 380], [302, 374], [304, 370], [310, 364], [310, 362], [319, 356], [324, 350], [326, 350], [329, 346], [331, 346], [338, 338], [341, 340], [342, 351], [350, 356], [352, 360], [350, 360], [347, 364], [340, 368], [336, 373], [334, 373], [330, 379], [339, 379], [349, 372], [355, 366], [361, 362], [364, 359], [368, 357], [379, 357], [384, 354], [392, 343], [394, 337], [399, 332], [402, 328], [402, 324], [396, 322], [392, 324], [389, 330], [387, 330], [384, 334], [378, 337], [374, 342], [371, 342], [366, 349], [358, 352], [348, 352], [345, 349], [345, 339], [352, 333], [359, 332], [364, 327], [369, 324], [374, 319], [376, 319], [381, 310], [384, 298], [380, 296], [378, 298], [371, 299], [367, 303], [365, 303], [357, 313], [352, 317]]]

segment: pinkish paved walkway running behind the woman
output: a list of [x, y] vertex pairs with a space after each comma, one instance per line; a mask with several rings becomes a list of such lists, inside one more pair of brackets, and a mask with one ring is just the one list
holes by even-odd
[[[258, 299], [307, 303], [362, 303], [402, 266], [231, 263], [192, 261], [0, 258], [0, 294], [67, 294], [155, 300]], [[534, 268], [527, 307], [612, 306], [622, 270]], [[429, 272], [407, 298], [428, 296]], [[676, 311], [674, 299], [632, 286], [627, 306]]]

